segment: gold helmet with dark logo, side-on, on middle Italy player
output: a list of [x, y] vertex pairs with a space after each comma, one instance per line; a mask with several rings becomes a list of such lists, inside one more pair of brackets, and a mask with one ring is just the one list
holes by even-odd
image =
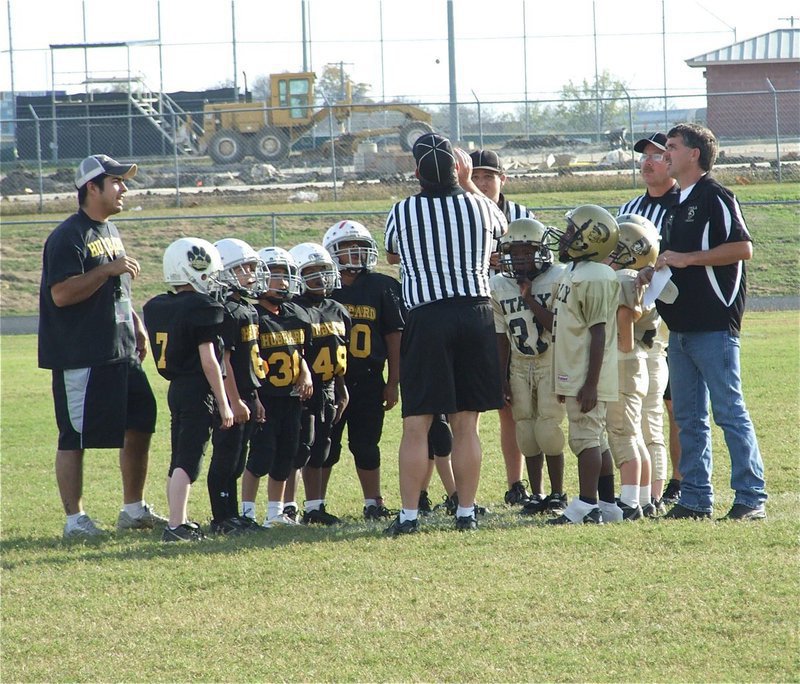
[[582, 204], [567, 212], [565, 231], [547, 229], [548, 246], [558, 249], [561, 261], [603, 262], [617, 246], [619, 226], [596, 204]]

